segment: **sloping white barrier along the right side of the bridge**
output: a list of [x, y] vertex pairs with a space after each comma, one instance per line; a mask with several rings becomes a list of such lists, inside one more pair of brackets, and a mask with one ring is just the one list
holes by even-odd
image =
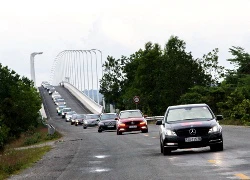
[[86, 105], [92, 113], [102, 113], [103, 107], [101, 105], [90, 99], [87, 95], [75, 88], [73, 85], [67, 82], [63, 82], [63, 86], [67, 88], [82, 104]]

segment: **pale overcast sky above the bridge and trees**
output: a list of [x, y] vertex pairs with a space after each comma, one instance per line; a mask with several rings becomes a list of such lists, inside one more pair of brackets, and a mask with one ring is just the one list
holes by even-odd
[[219, 48], [232, 68], [229, 48], [250, 53], [250, 0], [1, 0], [0, 63], [36, 84], [49, 80], [63, 50], [99, 49], [103, 60], [129, 56], [151, 41], [164, 47], [171, 35], [194, 58]]

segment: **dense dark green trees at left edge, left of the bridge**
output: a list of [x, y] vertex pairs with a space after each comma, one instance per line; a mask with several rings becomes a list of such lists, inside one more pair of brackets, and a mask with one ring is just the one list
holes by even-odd
[[0, 149], [39, 124], [41, 103], [32, 81], [0, 63]]

